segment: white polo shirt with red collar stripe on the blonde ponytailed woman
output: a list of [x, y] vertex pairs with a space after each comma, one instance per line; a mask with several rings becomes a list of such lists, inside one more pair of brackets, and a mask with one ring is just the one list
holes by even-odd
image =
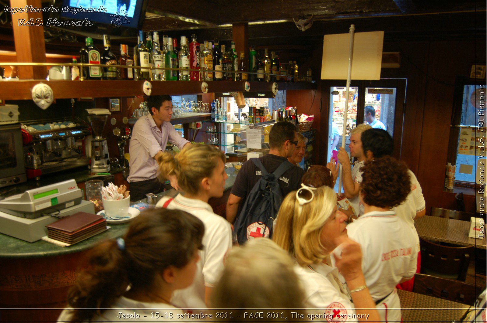
[[[169, 197], [163, 197], [156, 204], [162, 207]], [[211, 206], [203, 201], [188, 199], [178, 194], [167, 206], [191, 213], [205, 224], [203, 250], [199, 251], [200, 261], [193, 284], [186, 289], [176, 290], [171, 303], [180, 308], [206, 308], [205, 286], [213, 287], [224, 269], [224, 257], [232, 247], [230, 223], [213, 213]]]

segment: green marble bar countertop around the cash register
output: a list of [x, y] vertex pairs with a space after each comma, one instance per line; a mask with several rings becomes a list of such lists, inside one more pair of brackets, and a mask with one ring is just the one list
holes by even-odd
[[[235, 182], [235, 178], [237, 177], [238, 171], [235, 170], [233, 167], [225, 170], [228, 179], [225, 182], [225, 190], [230, 189]], [[83, 170], [86, 173], [86, 170]], [[54, 183], [63, 181], [69, 178], [73, 178], [74, 172], [70, 172], [70, 176], [64, 175], [56, 175], [58, 176], [65, 176], [64, 178], [57, 178], [57, 180], [53, 180]], [[51, 178], [51, 177], [50, 177]], [[25, 183], [24, 183], [25, 184]], [[48, 185], [43, 183], [43, 185]], [[42, 186], [43, 186], [42, 185]], [[21, 193], [21, 192], [19, 192]], [[15, 194], [15, 193], [12, 193]], [[177, 191], [174, 189], [169, 189], [167, 191], [161, 192], [157, 194], [158, 196], [175, 196]], [[145, 199], [138, 202], [146, 202]], [[136, 203], [138, 203], [136, 202]], [[112, 224], [108, 223], [110, 229], [105, 232], [102, 232], [92, 238], [88, 238], [81, 242], [78, 242], [70, 247], [60, 247], [56, 244], [38, 240], [36, 242], [27, 242], [18, 238], [13, 238], [7, 235], [0, 234], [0, 258], [39, 258], [39, 257], [46, 257], [46, 256], [57, 256], [57, 255], [67, 255], [73, 254], [77, 252], [81, 252], [84, 250], [88, 250], [92, 248], [96, 243], [105, 239], [112, 239], [118, 238], [125, 234], [127, 228], [130, 225], [130, 222], [120, 223], [120, 224]]]

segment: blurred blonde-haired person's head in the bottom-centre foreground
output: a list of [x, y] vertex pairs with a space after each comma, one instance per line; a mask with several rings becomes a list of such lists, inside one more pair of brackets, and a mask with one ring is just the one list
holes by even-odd
[[229, 252], [211, 304], [214, 308], [231, 309], [227, 311], [231, 317], [227, 314], [223, 318], [229, 321], [245, 319], [248, 309], [279, 308], [275, 311], [278, 315], [264, 313], [262, 318], [278, 321], [291, 319], [290, 311], [302, 312], [304, 293], [291, 257], [272, 240], [259, 238]]

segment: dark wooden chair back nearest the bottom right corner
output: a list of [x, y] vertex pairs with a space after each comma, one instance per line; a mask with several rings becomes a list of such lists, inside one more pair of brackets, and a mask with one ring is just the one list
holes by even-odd
[[467, 305], [473, 305], [482, 290], [480, 286], [421, 273], [414, 275], [414, 287], [412, 288], [412, 291], [415, 293]]

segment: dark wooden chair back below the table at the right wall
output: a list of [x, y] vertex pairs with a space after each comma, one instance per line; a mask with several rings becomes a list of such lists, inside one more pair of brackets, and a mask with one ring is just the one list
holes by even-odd
[[421, 273], [465, 281], [474, 246], [447, 247], [419, 238]]

